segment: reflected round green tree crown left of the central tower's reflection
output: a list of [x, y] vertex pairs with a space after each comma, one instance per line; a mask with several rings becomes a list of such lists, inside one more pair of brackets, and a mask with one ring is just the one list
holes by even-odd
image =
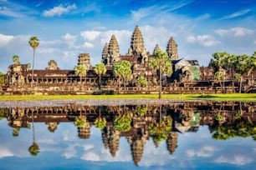
[[131, 130], [132, 113], [128, 112], [121, 114], [114, 119], [114, 128], [121, 132], [128, 132]]

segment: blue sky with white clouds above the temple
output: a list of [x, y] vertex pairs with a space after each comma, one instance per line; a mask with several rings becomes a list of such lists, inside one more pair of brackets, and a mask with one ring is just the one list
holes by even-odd
[[0, 72], [8, 72], [13, 55], [33, 62], [32, 36], [40, 41], [35, 69], [52, 59], [74, 69], [79, 53], [95, 66], [113, 34], [125, 55], [136, 26], [147, 52], [156, 44], [166, 50], [173, 37], [180, 58], [207, 66], [213, 52], [252, 55], [255, 21], [256, 0], [0, 0]]

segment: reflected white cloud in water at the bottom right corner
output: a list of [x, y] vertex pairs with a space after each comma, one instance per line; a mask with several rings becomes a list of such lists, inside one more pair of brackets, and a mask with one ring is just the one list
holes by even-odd
[[234, 165], [245, 165], [248, 163], [253, 162], [253, 158], [247, 157], [244, 155], [230, 155], [230, 157], [227, 156], [220, 156], [214, 160], [215, 163], [229, 163], [229, 164], [234, 164]]

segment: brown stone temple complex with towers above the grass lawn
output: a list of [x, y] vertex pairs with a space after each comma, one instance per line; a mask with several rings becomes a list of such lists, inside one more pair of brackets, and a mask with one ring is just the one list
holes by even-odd
[[[4, 77], [0, 92], [5, 94], [157, 93], [159, 90], [158, 72], [149, 66], [150, 58], [157, 50], [160, 50], [158, 44], [151, 49], [153, 53], [146, 50], [140, 28], [136, 26], [131, 35], [131, 45], [125, 55], [120, 54], [119, 43], [115, 35], [110, 37], [110, 42], [105, 43], [101, 62], [105, 64], [107, 72], [101, 76], [101, 82], [94, 71], [95, 67], [90, 64], [90, 54], [80, 53], [77, 63], [86, 67], [86, 74], [82, 77], [77, 76], [74, 70], [59, 69], [54, 60], [49, 61], [49, 66], [45, 70], [34, 70], [33, 76], [28, 64], [13, 64], [8, 67], [8, 73]], [[177, 42], [173, 37], [166, 42], [164, 51], [172, 59], [173, 71], [172, 76], [163, 75], [161, 78], [163, 93], [220, 93], [234, 92], [238, 89], [238, 84], [232, 87], [229, 72], [225, 72], [226, 81], [223, 82], [225, 86], [221, 87], [221, 83], [214, 79], [212, 67], [200, 67], [197, 60], [180, 58]], [[131, 62], [132, 77], [121, 82], [119, 87], [119, 79], [115, 77], [113, 69], [116, 62], [124, 60]], [[146, 78], [146, 87], [137, 86], [139, 77]], [[248, 79], [251, 80], [248, 85], [252, 85], [253, 76]], [[244, 85], [243, 91], [249, 90], [249, 86]]]

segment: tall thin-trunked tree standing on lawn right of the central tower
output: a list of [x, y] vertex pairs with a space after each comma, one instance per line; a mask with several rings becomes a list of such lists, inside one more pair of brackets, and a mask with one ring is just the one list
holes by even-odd
[[152, 69], [156, 69], [159, 73], [159, 98], [161, 98], [161, 76], [166, 74], [167, 76], [172, 75], [172, 61], [168, 57], [166, 52], [157, 50], [153, 57], [149, 61], [149, 66]]

